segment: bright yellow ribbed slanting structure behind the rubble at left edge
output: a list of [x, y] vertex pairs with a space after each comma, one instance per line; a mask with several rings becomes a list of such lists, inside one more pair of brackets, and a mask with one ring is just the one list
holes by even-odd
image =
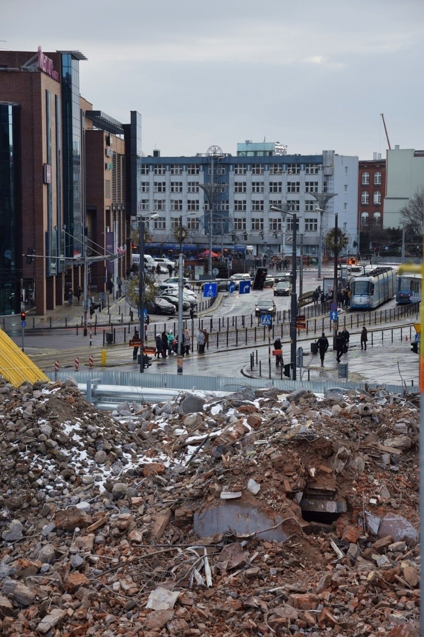
[[0, 374], [13, 387], [19, 387], [26, 380], [30, 383], [36, 383], [38, 380], [50, 383], [50, 378], [13, 343], [3, 330], [0, 330]]

